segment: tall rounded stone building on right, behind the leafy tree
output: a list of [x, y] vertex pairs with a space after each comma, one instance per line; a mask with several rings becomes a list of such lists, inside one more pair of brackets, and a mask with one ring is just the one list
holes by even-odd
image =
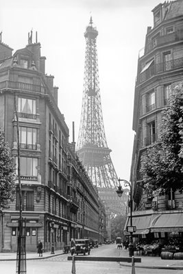
[[130, 180], [134, 197], [133, 225], [137, 229], [134, 234], [143, 238], [166, 238], [173, 231], [183, 233], [183, 195], [178, 191], [164, 196], [145, 192], [139, 171], [142, 155], [159, 142], [161, 112], [167, 105], [171, 84], [183, 80], [183, 1], [165, 1], [152, 12], [154, 27], [147, 27], [145, 49], [138, 58]]

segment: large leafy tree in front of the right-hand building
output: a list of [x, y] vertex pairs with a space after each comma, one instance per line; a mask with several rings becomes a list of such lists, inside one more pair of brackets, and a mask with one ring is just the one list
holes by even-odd
[[182, 83], [174, 84], [167, 108], [162, 111], [160, 143], [147, 149], [141, 158], [143, 184], [148, 190], [160, 190], [160, 194], [172, 190], [183, 190], [183, 158], [180, 157], [182, 136]]

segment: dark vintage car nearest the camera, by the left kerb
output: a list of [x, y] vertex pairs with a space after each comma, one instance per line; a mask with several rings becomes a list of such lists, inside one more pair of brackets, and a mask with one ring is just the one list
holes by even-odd
[[74, 253], [77, 255], [78, 254], [86, 255], [86, 253], [88, 253], [88, 255], [90, 255], [89, 239], [75, 240], [75, 245], [71, 246], [70, 251], [72, 256]]

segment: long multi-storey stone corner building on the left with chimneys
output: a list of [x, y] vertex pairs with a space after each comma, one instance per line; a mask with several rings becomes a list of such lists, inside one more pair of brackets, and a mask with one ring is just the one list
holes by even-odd
[[[0, 42], [0, 129], [18, 163], [27, 251], [41, 240], [45, 251], [62, 249], [71, 238], [99, 239], [99, 197], [69, 143], [69, 129], [58, 108], [58, 87], [45, 73], [40, 43], [12, 54]], [[18, 119], [16, 118], [18, 117]], [[18, 131], [17, 131], [18, 128]], [[19, 142], [18, 142], [19, 136]], [[0, 216], [0, 251], [16, 251], [19, 180], [10, 207]]]

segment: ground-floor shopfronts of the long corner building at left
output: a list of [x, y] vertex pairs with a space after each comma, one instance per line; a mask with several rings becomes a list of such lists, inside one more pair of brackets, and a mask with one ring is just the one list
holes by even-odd
[[[3, 212], [0, 215], [0, 252], [16, 252], [18, 234], [19, 213]], [[99, 238], [99, 232], [90, 227], [45, 212], [23, 212], [23, 235], [28, 252], [37, 252], [38, 240], [44, 251], [51, 251], [51, 247], [59, 250], [70, 245], [71, 238]]]

